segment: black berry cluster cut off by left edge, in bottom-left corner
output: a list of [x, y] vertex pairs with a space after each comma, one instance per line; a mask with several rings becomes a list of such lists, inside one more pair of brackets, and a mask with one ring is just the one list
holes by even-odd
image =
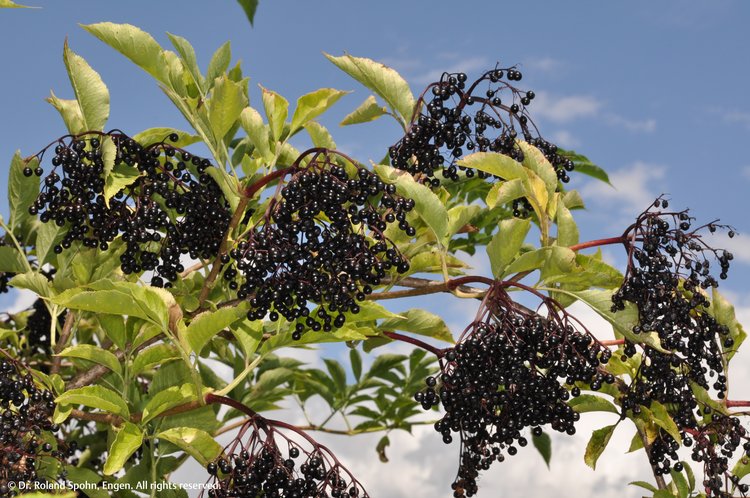
[[54, 410], [50, 391], [37, 387], [14, 361], [0, 360], [0, 497], [15, 496], [22, 484], [33, 489], [59, 477], [46, 475], [42, 460], [62, 462], [75, 449], [50, 442], [59, 430], [51, 420]]

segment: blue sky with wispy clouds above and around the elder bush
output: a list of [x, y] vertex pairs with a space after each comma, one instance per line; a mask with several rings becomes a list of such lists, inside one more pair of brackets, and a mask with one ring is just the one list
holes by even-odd
[[[251, 77], [256, 107], [257, 84], [290, 101], [319, 87], [353, 90], [324, 123], [340, 148], [361, 160], [381, 158], [398, 139], [399, 128], [383, 120], [339, 129], [336, 123], [368, 94], [322, 52], [385, 62], [415, 93], [444, 70], [463, 70], [471, 77], [500, 61], [518, 64], [522, 85], [539, 96], [531, 113], [542, 135], [588, 155], [612, 177], [615, 189], [573, 177], [571, 187], [582, 191], [589, 206], [577, 214], [582, 240], [618, 235], [656, 195], [668, 193], [674, 207], [690, 207], [702, 220], [721, 218], [748, 234], [717, 243], [729, 243], [736, 255], [722, 288], [738, 303], [740, 316], [750, 317], [750, 157], [744, 148], [750, 138], [748, 2], [265, 0], [251, 28], [233, 1], [29, 1], [42, 8], [0, 11], [0, 192], [16, 149], [28, 155], [65, 133], [44, 102], [50, 89], [72, 96], [62, 62], [65, 37], [109, 86], [111, 127], [133, 134], [154, 126], [186, 128], [148, 75], [78, 23], [131, 23], [164, 47], [169, 46], [165, 32], [184, 36], [203, 68], [213, 51], [231, 40], [233, 58], [243, 61]], [[0, 213], [7, 214], [4, 194]], [[620, 261], [614, 250], [607, 254]], [[7, 297], [0, 299], [0, 305], [8, 304]], [[455, 312], [446, 317], [452, 324], [465, 316], [460, 306], [445, 309]], [[371, 459], [367, 451], [363, 458]], [[407, 469], [412, 460], [399, 465]], [[538, 463], [529, 468], [541, 470]], [[422, 464], [435, 469], [434, 463]], [[567, 474], [554, 479], [577, 472], [566, 468]], [[586, 478], [591, 485], [598, 482], [599, 490], [615, 486], [612, 496], [622, 496], [617, 492], [622, 479], [606, 475], [589, 472]], [[552, 482], [544, 479], [540, 494]], [[511, 488], [502, 496], [517, 495]]]

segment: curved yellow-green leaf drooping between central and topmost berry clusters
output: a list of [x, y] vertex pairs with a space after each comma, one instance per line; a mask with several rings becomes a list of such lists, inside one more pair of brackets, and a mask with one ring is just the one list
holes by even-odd
[[375, 165], [375, 172], [384, 182], [395, 183], [399, 195], [414, 200], [414, 211], [430, 227], [435, 239], [442, 243], [448, 233], [448, 211], [440, 198], [408, 173], [382, 164]]

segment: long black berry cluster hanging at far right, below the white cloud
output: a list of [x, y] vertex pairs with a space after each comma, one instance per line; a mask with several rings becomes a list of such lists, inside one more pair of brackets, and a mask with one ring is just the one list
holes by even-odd
[[[690, 383], [713, 388], [719, 398], [725, 396], [723, 351], [733, 346], [733, 340], [729, 329], [710, 314], [705, 289], [718, 285], [711, 274], [712, 260], [718, 260], [724, 279], [732, 254], [713, 249], [703, 240], [703, 231], [726, 227], [715, 223], [693, 227], [687, 211], [666, 209], [668, 201], [657, 199], [625, 234], [628, 268], [612, 297], [612, 310], [633, 303], [638, 309], [633, 332], [655, 332], [667, 352], [644, 348], [648, 361], [642, 362], [623, 406], [648, 406], [650, 400], [675, 404], [678, 425], [694, 427], [691, 411], [696, 403]], [[729, 235], [733, 236], [731, 229]], [[625, 356], [635, 352], [632, 344], [624, 350]]]

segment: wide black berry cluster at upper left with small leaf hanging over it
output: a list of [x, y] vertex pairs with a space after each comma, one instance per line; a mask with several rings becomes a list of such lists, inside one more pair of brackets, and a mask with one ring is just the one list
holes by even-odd
[[[167, 138], [179, 140], [174, 133]], [[183, 254], [216, 257], [230, 212], [207, 159], [119, 131], [63, 137], [37, 154], [40, 162], [52, 146], [52, 170], [29, 213], [65, 227], [56, 253], [76, 241], [106, 250], [121, 236], [123, 273], [152, 271], [155, 286], [177, 278]], [[24, 174], [43, 170], [27, 167]]]

